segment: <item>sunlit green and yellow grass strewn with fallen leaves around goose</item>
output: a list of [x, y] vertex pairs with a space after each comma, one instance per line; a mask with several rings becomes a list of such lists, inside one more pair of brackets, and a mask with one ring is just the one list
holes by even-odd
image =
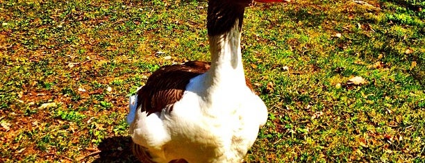
[[[269, 121], [246, 162], [425, 161], [425, 2], [365, 2], [247, 9], [244, 67]], [[1, 1], [0, 162], [135, 162], [128, 94], [209, 59], [206, 8]]]

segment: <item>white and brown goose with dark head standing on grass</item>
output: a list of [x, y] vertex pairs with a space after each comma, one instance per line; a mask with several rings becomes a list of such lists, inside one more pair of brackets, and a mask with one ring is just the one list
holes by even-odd
[[140, 161], [243, 161], [268, 117], [242, 67], [242, 21], [251, 3], [209, 0], [211, 61], [161, 67], [130, 97], [131, 148]]

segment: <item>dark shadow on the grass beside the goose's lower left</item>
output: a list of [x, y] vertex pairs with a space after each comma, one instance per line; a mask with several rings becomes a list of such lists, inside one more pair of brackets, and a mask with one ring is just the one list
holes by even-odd
[[93, 162], [139, 162], [131, 152], [131, 137], [109, 137], [103, 139], [99, 148], [99, 158]]

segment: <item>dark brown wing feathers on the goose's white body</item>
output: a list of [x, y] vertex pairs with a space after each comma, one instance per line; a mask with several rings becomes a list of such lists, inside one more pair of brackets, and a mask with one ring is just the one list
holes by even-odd
[[[161, 67], [148, 78], [146, 85], [138, 91], [137, 107], [142, 105], [142, 112], [147, 114], [161, 112], [167, 105], [172, 105], [183, 96], [186, 85], [191, 78], [199, 76], [210, 69], [210, 62], [189, 61], [183, 65]], [[245, 78], [247, 87], [252, 85]]]

